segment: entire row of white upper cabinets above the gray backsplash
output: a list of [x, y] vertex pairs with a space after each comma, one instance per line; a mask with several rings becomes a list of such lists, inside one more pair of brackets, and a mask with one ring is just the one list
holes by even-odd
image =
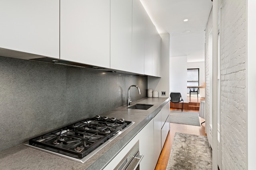
[[160, 76], [161, 38], [140, 0], [0, 0], [0, 21], [3, 56]]

